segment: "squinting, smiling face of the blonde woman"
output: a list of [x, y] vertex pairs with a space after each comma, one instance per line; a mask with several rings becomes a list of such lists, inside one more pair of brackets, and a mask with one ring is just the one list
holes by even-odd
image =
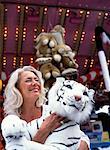
[[24, 71], [19, 76], [18, 89], [23, 99], [37, 99], [41, 92], [39, 78], [31, 71]]

